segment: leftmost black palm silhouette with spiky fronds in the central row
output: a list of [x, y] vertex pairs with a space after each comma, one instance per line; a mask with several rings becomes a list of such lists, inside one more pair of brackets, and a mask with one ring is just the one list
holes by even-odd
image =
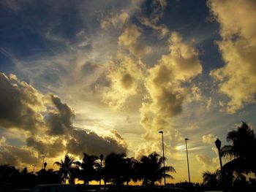
[[68, 154], [64, 156], [63, 161], [61, 159], [60, 162], [56, 161], [54, 163], [57, 166], [59, 166], [59, 172], [61, 173], [61, 178], [64, 184], [66, 184], [67, 179], [71, 179], [69, 181], [73, 183], [74, 178], [72, 177], [72, 173], [74, 172], [74, 169], [75, 169], [75, 166], [74, 166], [75, 163], [76, 163], [75, 158]]

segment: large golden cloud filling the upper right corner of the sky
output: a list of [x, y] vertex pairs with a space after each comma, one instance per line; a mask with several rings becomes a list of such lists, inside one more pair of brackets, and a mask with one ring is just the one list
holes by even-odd
[[222, 41], [217, 42], [225, 66], [211, 71], [219, 92], [230, 98], [229, 113], [255, 102], [256, 93], [256, 1], [208, 1], [220, 24]]

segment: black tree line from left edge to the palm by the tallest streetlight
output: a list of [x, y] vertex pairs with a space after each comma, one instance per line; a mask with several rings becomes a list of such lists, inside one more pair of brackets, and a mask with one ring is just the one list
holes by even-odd
[[15, 166], [0, 166], [0, 191], [11, 191], [15, 188], [32, 188], [39, 184], [75, 184], [75, 180], [83, 180], [84, 185], [97, 181], [105, 186], [107, 183], [120, 187], [129, 182], [142, 181], [143, 185], [155, 185], [163, 177], [173, 178], [168, 172], [176, 172], [172, 166], [162, 166], [164, 158], [157, 153], [143, 155], [140, 161], [127, 158], [124, 153], [110, 153], [103, 155], [89, 155], [83, 153], [82, 161], [75, 161], [72, 155], [66, 154], [64, 159], [56, 161], [58, 171], [41, 169], [39, 172], [29, 173], [15, 169]]

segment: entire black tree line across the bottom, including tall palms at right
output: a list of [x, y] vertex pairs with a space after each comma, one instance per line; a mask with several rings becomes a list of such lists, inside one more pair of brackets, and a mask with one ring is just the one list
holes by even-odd
[[[203, 183], [176, 183], [169, 187], [184, 188], [187, 191], [225, 190], [256, 191], [256, 137], [252, 128], [242, 122], [236, 130], [227, 134], [227, 142], [221, 148], [222, 157], [230, 157], [230, 161], [216, 172], [203, 172]], [[176, 172], [173, 166], [163, 167], [164, 158], [157, 153], [143, 155], [140, 160], [128, 158], [124, 153], [89, 155], [83, 153], [82, 161], [76, 161], [72, 155], [64, 155], [64, 159], [56, 161], [58, 171], [41, 169], [39, 172], [22, 171], [11, 165], [0, 165], [0, 191], [12, 191], [15, 188], [33, 188], [39, 184], [75, 184], [75, 180], [83, 180], [83, 186], [89, 188], [91, 181], [99, 185], [128, 186], [131, 181], [141, 181], [143, 186], [154, 188], [157, 182], [173, 178], [170, 172]], [[254, 177], [251, 177], [254, 176]], [[102, 182], [103, 181], [103, 182]], [[142, 190], [146, 188], [142, 188]], [[165, 188], [162, 188], [164, 190]], [[154, 190], [154, 191], [158, 191]]]

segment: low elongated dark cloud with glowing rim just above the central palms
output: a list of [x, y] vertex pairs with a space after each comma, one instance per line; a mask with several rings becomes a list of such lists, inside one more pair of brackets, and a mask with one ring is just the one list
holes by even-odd
[[108, 155], [112, 152], [127, 152], [127, 145], [120, 136], [119, 138], [100, 137], [94, 132], [74, 130], [71, 139], [67, 141], [67, 151], [75, 155], [83, 155], [83, 153]]

